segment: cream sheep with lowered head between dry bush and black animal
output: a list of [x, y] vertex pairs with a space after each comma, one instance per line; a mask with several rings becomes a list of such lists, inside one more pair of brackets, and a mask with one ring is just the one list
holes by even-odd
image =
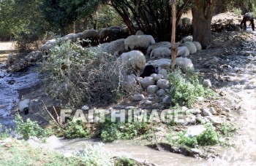
[[140, 76], [141, 71], [143, 71], [143, 68], [146, 66], [146, 58], [143, 53], [138, 50], [124, 52], [121, 54], [120, 58], [127, 70], [132, 68], [137, 71], [137, 76]]

